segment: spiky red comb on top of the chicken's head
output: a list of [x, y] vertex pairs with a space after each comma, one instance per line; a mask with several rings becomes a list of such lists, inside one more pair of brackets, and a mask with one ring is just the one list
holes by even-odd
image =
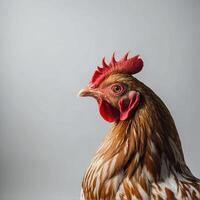
[[95, 70], [90, 84], [97, 86], [101, 81], [112, 72], [122, 72], [127, 74], [136, 74], [142, 70], [143, 61], [139, 55], [128, 59], [128, 53], [126, 53], [119, 61], [115, 59], [115, 53], [113, 53], [109, 64], [106, 63], [105, 57], [102, 59], [102, 67], [97, 67]]

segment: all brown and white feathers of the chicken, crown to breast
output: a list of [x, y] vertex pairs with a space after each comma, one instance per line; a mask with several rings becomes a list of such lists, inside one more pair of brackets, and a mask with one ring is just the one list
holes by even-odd
[[83, 177], [82, 199], [200, 199], [200, 181], [185, 163], [167, 107], [130, 74], [112, 72], [98, 87], [113, 82], [138, 91], [140, 104], [126, 120], [114, 123], [99, 146]]

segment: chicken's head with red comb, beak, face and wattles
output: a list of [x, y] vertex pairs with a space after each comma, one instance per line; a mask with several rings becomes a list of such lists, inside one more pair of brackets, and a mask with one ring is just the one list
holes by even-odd
[[139, 55], [128, 58], [126, 53], [116, 61], [113, 53], [109, 64], [102, 59], [102, 67], [97, 67], [88, 86], [80, 90], [79, 95], [94, 97], [106, 121], [126, 120], [140, 103], [141, 94], [132, 74], [140, 72], [142, 67]]

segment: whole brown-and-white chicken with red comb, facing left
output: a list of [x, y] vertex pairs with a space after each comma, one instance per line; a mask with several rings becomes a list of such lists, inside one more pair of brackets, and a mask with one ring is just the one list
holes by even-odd
[[83, 177], [83, 200], [200, 199], [200, 180], [185, 163], [169, 110], [132, 76], [142, 68], [140, 56], [116, 61], [113, 54], [79, 92], [114, 122]]

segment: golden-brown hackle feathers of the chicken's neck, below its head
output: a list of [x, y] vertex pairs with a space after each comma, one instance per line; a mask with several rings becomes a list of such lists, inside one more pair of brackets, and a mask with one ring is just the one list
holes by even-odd
[[185, 168], [168, 109], [150, 89], [144, 92], [146, 98], [132, 118], [116, 122], [98, 148], [82, 182], [86, 199], [114, 198], [124, 178], [148, 191], [147, 182], [159, 181], [163, 166], [167, 172]]

